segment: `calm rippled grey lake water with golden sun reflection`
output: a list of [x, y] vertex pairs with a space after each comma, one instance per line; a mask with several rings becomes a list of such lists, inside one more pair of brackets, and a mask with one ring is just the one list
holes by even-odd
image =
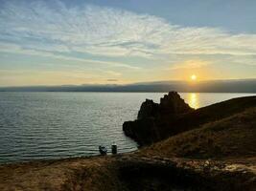
[[[137, 144], [122, 131], [146, 98], [163, 93], [0, 93], [0, 162], [98, 155], [113, 141]], [[248, 94], [181, 94], [194, 108]], [[255, 95], [254, 95], [255, 96]]]

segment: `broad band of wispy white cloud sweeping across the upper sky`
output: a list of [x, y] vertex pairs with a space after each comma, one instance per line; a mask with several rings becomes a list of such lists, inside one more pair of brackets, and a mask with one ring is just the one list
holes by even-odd
[[[147, 14], [60, 1], [8, 1], [0, 11], [1, 39], [39, 51], [110, 56], [156, 53], [255, 54], [256, 34], [186, 28]], [[13, 40], [14, 37], [14, 40]], [[254, 43], [253, 43], [254, 42]]]

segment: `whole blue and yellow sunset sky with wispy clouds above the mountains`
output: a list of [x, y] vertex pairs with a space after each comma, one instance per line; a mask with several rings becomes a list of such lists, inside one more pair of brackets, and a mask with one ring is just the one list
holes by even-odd
[[256, 78], [254, 0], [0, 0], [0, 86]]

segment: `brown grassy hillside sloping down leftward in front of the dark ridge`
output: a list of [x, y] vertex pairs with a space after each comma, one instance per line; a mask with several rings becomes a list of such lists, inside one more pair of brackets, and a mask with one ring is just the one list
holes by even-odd
[[203, 124], [198, 129], [160, 141], [141, 152], [196, 159], [255, 157], [256, 107]]

